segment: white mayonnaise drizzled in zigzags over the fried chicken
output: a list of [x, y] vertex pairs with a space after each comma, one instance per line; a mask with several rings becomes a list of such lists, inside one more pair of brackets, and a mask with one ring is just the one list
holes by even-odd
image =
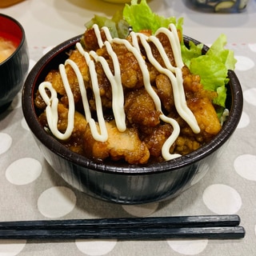
[[[174, 53], [174, 60], [176, 66], [171, 65], [170, 60], [166, 54], [166, 51], [162, 46], [162, 43], [155, 36], [148, 37], [145, 34], [131, 32], [130, 36], [132, 38], [132, 43], [130, 43], [126, 39], [112, 38], [110, 30], [107, 27], [103, 27], [102, 30], [104, 30], [106, 35], [106, 42], [103, 42], [101, 32], [98, 26], [94, 25], [93, 29], [98, 39], [98, 46], [106, 46], [106, 51], [110, 55], [110, 58], [112, 59], [112, 62], [114, 64], [113, 74], [105, 58], [99, 56], [94, 51], [90, 51], [89, 53], [86, 52], [79, 42], [76, 44], [79, 53], [84, 56], [86, 64], [89, 68], [90, 79], [95, 98], [98, 127], [96, 126], [96, 122], [94, 121], [94, 119], [91, 118], [89, 102], [86, 97], [86, 87], [84, 85], [82, 74], [78, 69], [77, 64], [68, 59], [65, 62], [65, 66], [70, 65], [78, 78], [78, 84], [82, 94], [82, 103], [86, 114], [86, 121], [89, 122], [90, 130], [95, 140], [99, 142], [106, 142], [108, 138], [106, 122], [104, 120], [102, 111], [102, 101], [98, 88], [98, 78], [95, 70], [95, 62], [101, 63], [102, 68], [106, 74], [106, 77], [110, 81], [110, 85], [112, 88], [112, 108], [116, 126], [120, 132], [126, 130], [126, 114], [124, 111], [124, 93], [122, 88], [120, 64], [118, 62], [118, 56], [114, 53], [114, 50], [112, 48], [112, 43], [122, 44], [126, 46], [127, 50], [134, 54], [134, 57], [137, 59], [138, 65], [142, 70], [145, 89], [148, 92], [148, 94], [150, 94], [150, 97], [153, 99], [156, 110], [159, 110], [162, 113], [162, 103], [160, 98], [158, 97], [158, 94], [156, 94], [156, 92], [154, 91], [153, 87], [150, 84], [150, 73], [149, 70], [147, 69], [146, 62], [142, 57], [142, 52], [139, 48], [138, 40], [140, 40], [140, 42], [142, 43], [142, 46], [146, 51], [146, 56], [149, 59], [150, 63], [158, 70], [159, 73], [166, 74], [166, 76], [170, 78], [170, 82], [172, 84], [174, 93], [174, 104], [176, 110], [178, 111], [178, 114], [187, 122], [187, 124], [190, 126], [190, 128], [194, 131], [195, 134], [198, 134], [200, 132], [200, 128], [198, 126], [196, 118], [194, 117], [194, 114], [191, 112], [188, 106], [186, 106], [186, 98], [183, 89], [182, 79], [182, 66], [184, 66], [184, 64], [182, 62], [182, 54], [178, 38], [178, 32], [174, 24], [170, 24], [170, 30], [166, 28], [160, 28], [159, 30], [157, 30], [155, 35], [160, 33], [166, 34]], [[156, 48], [158, 49], [166, 67], [161, 66], [160, 63], [154, 58], [149, 42], [154, 43], [154, 46], [156, 46]], [[68, 82], [68, 79], [66, 78], [65, 66], [59, 66], [62, 82], [64, 84], [64, 88], [66, 90], [66, 94], [69, 101], [68, 126], [64, 134], [62, 134], [58, 130], [58, 95], [56, 91], [54, 90], [50, 82], [42, 82], [42, 84], [39, 86], [39, 93], [42, 95], [42, 98], [47, 105], [46, 117], [50, 130], [54, 134], [54, 136], [63, 140], [69, 138], [72, 133], [72, 130], [74, 129], [74, 96], [72, 94], [72, 91], [70, 90], [70, 84]], [[46, 88], [50, 90], [50, 98], [46, 94]], [[170, 154], [170, 147], [173, 145], [173, 143], [178, 138], [178, 135], [180, 133], [180, 127], [178, 125], [178, 122], [175, 121], [174, 118], [167, 117], [165, 114], [160, 114], [160, 118], [163, 122], [170, 123], [170, 125], [174, 129], [173, 133], [162, 146], [162, 157], [165, 158], [166, 160], [177, 158], [180, 155]]]

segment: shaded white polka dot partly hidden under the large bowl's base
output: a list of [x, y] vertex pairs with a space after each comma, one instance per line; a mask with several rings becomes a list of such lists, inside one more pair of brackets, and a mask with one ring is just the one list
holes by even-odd
[[134, 205], [134, 206], [123, 205], [122, 208], [131, 215], [144, 217], [144, 216], [153, 214], [154, 211], [158, 209], [158, 202], [152, 202], [152, 203], [146, 203], [143, 205]]

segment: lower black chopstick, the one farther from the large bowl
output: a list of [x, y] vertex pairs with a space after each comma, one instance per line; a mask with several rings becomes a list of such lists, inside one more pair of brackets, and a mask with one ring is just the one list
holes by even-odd
[[167, 239], [167, 238], [244, 238], [242, 226], [183, 228], [119, 228], [88, 230], [0, 230], [0, 239]]

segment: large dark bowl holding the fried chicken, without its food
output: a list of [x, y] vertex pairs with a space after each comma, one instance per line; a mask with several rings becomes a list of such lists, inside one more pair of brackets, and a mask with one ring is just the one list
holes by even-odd
[[[38, 122], [34, 94], [51, 69], [67, 58], [81, 36], [71, 38], [46, 54], [31, 70], [22, 92], [22, 109], [42, 154], [57, 173], [71, 186], [109, 202], [138, 204], [174, 198], [206, 174], [218, 158], [222, 146], [233, 134], [242, 114], [242, 90], [238, 78], [229, 71], [226, 107], [230, 110], [220, 133], [212, 142], [193, 153], [149, 166], [98, 164], [75, 154], [46, 133]], [[185, 42], [193, 40], [185, 37]], [[194, 41], [194, 40], [193, 40]], [[196, 41], [194, 41], [196, 42]], [[198, 43], [198, 42], [196, 42]], [[204, 50], [207, 47], [204, 46]]]

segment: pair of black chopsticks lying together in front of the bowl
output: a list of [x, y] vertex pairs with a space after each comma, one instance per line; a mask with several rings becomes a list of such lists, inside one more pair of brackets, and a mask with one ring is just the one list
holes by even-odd
[[0, 222], [0, 239], [244, 238], [239, 224], [236, 214]]

